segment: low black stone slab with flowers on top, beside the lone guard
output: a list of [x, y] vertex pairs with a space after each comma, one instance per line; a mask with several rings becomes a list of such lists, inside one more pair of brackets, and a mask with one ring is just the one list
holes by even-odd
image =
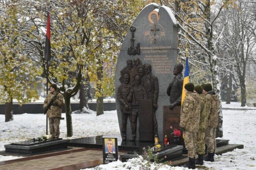
[[68, 148], [68, 140], [62, 138], [47, 139], [44, 141], [26, 140], [22, 142], [4, 145], [5, 154], [16, 155], [35, 155], [53, 151], [66, 150]]

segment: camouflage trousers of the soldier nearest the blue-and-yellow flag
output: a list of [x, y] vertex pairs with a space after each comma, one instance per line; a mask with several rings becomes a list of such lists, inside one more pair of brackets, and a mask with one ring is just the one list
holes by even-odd
[[188, 157], [194, 158], [196, 156], [196, 132], [184, 131], [184, 142], [188, 150]]

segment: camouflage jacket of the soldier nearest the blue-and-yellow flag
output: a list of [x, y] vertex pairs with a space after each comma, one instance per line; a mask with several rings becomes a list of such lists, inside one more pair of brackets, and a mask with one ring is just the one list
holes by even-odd
[[195, 92], [189, 92], [181, 107], [180, 127], [190, 132], [198, 132], [200, 109], [200, 96]]

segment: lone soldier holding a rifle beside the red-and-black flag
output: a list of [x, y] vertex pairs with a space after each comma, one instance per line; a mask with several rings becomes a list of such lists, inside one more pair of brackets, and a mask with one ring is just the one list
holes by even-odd
[[61, 107], [64, 105], [64, 98], [63, 96], [58, 93], [57, 96], [57, 85], [51, 84], [50, 86], [51, 92], [46, 96], [44, 100], [44, 108], [53, 100], [53, 104], [47, 111], [47, 117], [49, 120], [49, 129], [50, 134], [52, 135], [52, 138], [58, 138], [59, 137], [59, 124], [60, 124], [60, 118], [61, 118]]

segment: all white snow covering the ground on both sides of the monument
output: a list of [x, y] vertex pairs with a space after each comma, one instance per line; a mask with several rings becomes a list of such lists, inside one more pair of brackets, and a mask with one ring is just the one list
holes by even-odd
[[[65, 117], [65, 114], [62, 114]], [[116, 111], [104, 112], [104, 115], [72, 114], [73, 136], [80, 138], [104, 134], [118, 134], [119, 126]], [[111, 129], [106, 127], [112, 127]], [[225, 110], [223, 109], [223, 138], [229, 139], [229, 143], [243, 144], [244, 149], [236, 149], [222, 155], [215, 155], [215, 162], [205, 162], [209, 169], [256, 169], [256, 110]], [[60, 136], [66, 138], [66, 119], [61, 120]], [[45, 134], [45, 115], [22, 114], [14, 115], [14, 120], [4, 122], [4, 115], [0, 115], [0, 150], [4, 145], [12, 142], [39, 137]], [[20, 157], [0, 156], [0, 161]], [[114, 162], [100, 165], [98, 169], [139, 169], [142, 164], [140, 158], [130, 160], [128, 163]], [[152, 165], [155, 168], [155, 165]], [[200, 169], [205, 169], [198, 166]], [[158, 169], [184, 170], [181, 167], [169, 167], [164, 165]]]

